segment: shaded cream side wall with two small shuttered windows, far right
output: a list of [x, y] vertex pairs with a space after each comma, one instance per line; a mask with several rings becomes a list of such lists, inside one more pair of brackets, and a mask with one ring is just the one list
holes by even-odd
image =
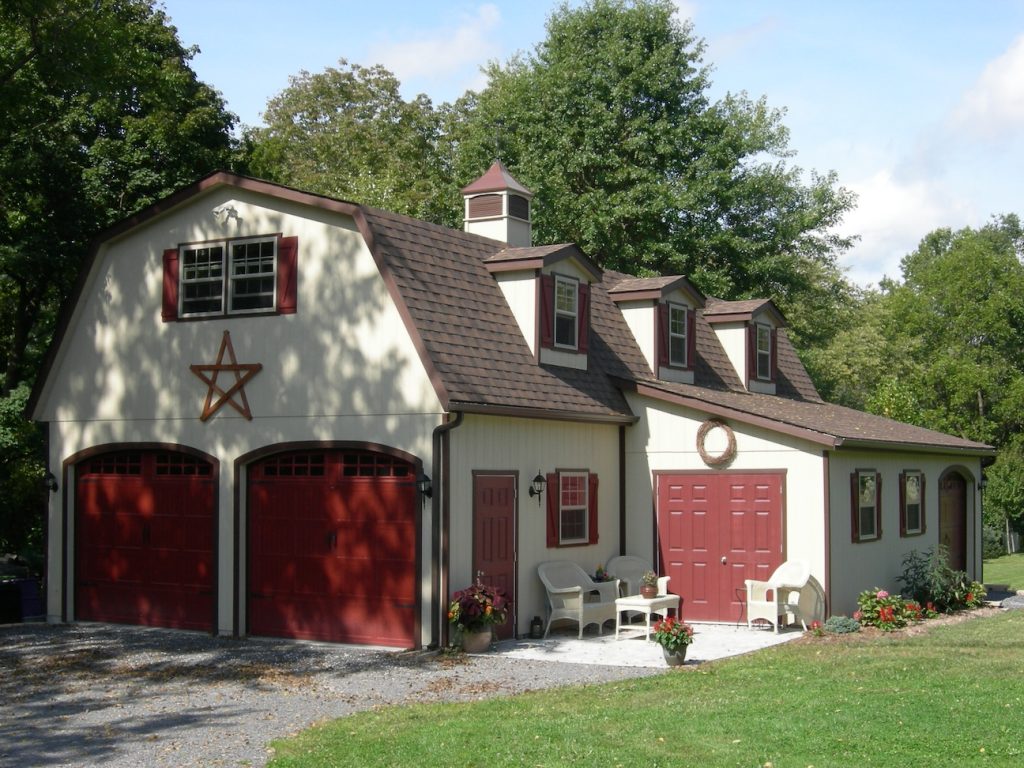
[[[850, 476], [857, 469], [882, 475], [882, 537], [870, 542], [852, 541]], [[899, 475], [915, 469], [925, 474], [925, 532], [900, 537]], [[981, 515], [978, 501], [980, 462], [959, 456], [897, 452], [840, 452], [829, 455], [829, 509], [831, 529], [831, 612], [849, 615], [857, 609], [857, 596], [876, 587], [899, 593], [897, 581], [903, 558], [916, 550], [926, 552], [939, 542], [939, 478], [956, 470], [967, 481], [967, 571], [981, 578]]]

